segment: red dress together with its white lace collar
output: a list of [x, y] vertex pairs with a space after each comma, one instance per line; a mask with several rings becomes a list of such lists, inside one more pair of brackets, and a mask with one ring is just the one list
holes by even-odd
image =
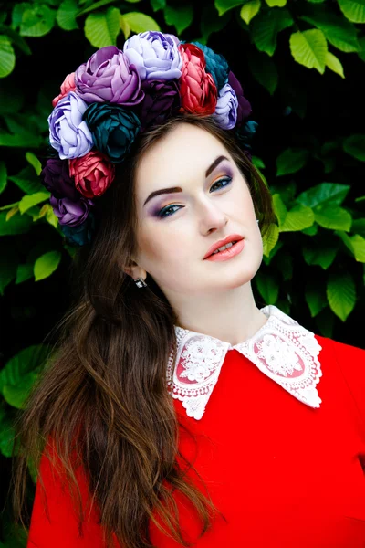
[[[314, 335], [276, 307], [262, 311], [266, 325], [235, 347], [176, 328], [170, 390], [197, 440], [195, 450], [182, 429], [180, 450], [225, 518], [199, 539], [200, 523], [177, 493], [183, 534], [198, 548], [364, 548], [365, 351]], [[50, 521], [37, 483], [27, 548], [104, 548], [95, 507], [79, 537], [45, 458], [40, 473]], [[153, 524], [151, 541], [180, 546]]]

